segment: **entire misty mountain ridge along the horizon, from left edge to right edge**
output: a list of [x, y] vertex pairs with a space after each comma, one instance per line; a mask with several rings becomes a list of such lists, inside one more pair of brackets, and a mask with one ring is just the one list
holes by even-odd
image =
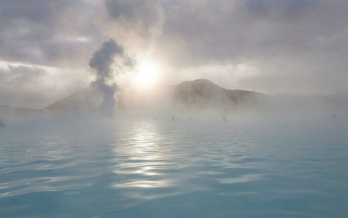
[[[120, 111], [134, 109], [145, 111], [156, 109], [210, 109], [219, 107], [224, 111], [236, 108], [253, 109], [261, 105], [268, 109], [287, 110], [292, 107], [322, 107], [326, 105], [342, 105], [348, 102], [348, 92], [330, 95], [265, 95], [256, 91], [223, 88], [207, 79], [182, 81], [175, 85], [164, 85], [155, 93], [137, 90], [122, 91], [117, 94], [117, 108]], [[161, 98], [153, 98], [160, 95]], [[100, 107], [98, 97], [93, 88], [82, 88], [71, 93], [42, 109], [26, 109], [0, 105], [1, 114], [9, 112], [18, 115], [36, 113], [38, 111], [98, 111]], [[161, 107], [165, 105], [166, 107]]]

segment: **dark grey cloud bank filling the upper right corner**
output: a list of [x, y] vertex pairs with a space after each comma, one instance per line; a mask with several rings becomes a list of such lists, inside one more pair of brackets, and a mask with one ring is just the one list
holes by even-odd
[[192, 57], [177, 49], [173, 59], [198, 64], [310, 52], [313, 40], [347, 30], [346, 1], [207, 1], [191, 8], [181, 1], [177, 6], [165, 8], [161, 40], [178, 42]]

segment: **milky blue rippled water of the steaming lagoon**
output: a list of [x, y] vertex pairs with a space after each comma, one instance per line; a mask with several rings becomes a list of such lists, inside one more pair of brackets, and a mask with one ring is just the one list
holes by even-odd
[[133, 119], [0, 129], [0, 217], [347, 217], [347, 124]]

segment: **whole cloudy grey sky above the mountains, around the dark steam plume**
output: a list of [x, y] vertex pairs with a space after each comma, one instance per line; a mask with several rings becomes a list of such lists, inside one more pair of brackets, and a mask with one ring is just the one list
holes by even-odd
[[[96, 77], [88, 63], [110, 39], [165, 84], [344, 92], [347, 20], [346, 0], [2, 0], [0, 105], [42, 108], [86, 88]], [[136, 86], [136, 70], [113, 71], [120, 88]]]

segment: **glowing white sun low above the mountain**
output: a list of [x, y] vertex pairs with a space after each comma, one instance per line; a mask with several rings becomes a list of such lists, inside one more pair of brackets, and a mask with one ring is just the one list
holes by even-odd
[[157, 82], [159, 70], [151, 61], [143, 61], [136, 70], [136, 84], [139, 88], [150, 88]]

